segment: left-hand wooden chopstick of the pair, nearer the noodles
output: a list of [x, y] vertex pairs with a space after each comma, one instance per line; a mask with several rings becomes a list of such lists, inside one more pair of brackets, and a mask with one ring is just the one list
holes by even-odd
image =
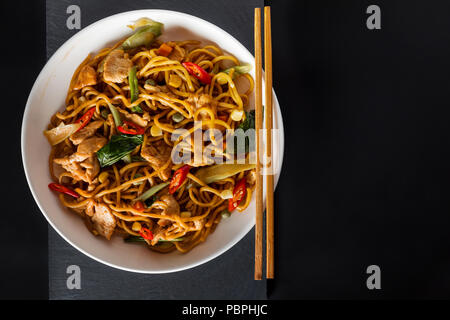
[[261, 166], [262, 129], [262, 53], [261, 9], [255, 8], [255, 131], [256, 131], [256, 223], [255, 223], [255, 280], [262, 279], [263, 250], [263, 179]]

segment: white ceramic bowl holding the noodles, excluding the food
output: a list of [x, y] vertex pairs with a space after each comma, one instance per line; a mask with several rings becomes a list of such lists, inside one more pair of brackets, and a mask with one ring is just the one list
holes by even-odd
[[[22, 122], [22, 160], [31, 192], [50, 225], [72, 246], [87, 256], [122, 270], [142, 273], [180, 271], [205, 263], [241, 240], [255, 224], [254, 200], [243, 213], [234, 213], [222, 221], [207, 240], [187, 254], [159, 254], [144, 246], [124, 243], [121, 237], [107, 241], [93, 236], [78, 215], [63, 207], [47, 185], [50, 182], [48, 156], [50, 146], [42, 134], [50, 117], [63, 110], [73, 72], [89, 53], [130, 34], [126, 26], [141, 17], [163, 22], [161, 38], [172, 40], [210, 40], [253, 64], [250, 52], [233, 36], [197, 17], [166, 10], [130, 11], [102, 19], [84, 28], [62, 45], [39, 74], [28, 97]], [[254, 76], [254, 74], [253, 74]], [[281, 168], [284, 136], [280, 107], [274, 95], [275, 127], [281, 129], [274, 139], [274, 161]], [[278, 174], [275, 177], [278, 181]]]

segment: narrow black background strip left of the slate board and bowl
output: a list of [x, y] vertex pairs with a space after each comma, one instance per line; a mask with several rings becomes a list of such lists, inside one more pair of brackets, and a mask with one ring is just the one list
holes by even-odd
[[28, 94], [45, 64], [45, 1], [1, 1], [3, 219], [0, 222], [0, 298], [48, 296], [47, 221], [28, 188], [20, 130]]

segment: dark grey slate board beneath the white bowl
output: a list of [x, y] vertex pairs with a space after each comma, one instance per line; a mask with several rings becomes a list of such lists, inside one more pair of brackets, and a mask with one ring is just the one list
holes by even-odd
[[[170, 9], [208, 20], [253, 52], [253, 8], [262, 0], [47, 0], [47, 58], [78, 30], [66, 27], [67, 7], [81, 8], [81, 28], [112, 14]], [[50, 299], [265, 299], [265, 281], [253, 280], [254, 232], [220, 257], [196, 268], [164, 275], [114, 269], [78, 252], [49, 228]], [[66, 286], [66, 269], [81, 269], [81, 289]]]

